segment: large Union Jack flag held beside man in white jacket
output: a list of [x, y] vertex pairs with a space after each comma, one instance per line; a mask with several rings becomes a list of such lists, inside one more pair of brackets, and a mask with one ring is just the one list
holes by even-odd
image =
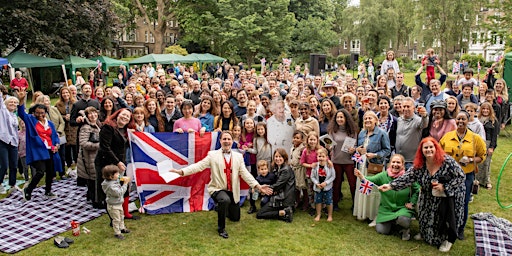
[[[135, 183], [141, 207], [148, 214], [195, 212], [213, 209], [208, 194], [210, 169], [166, 183], [158, 173], [157, 163], [171, 160], [181, 169], [206, 157], [208, 151], [220, 148], [219, 133], [145, 133], [130, 132], [130, 146]], [[248, 186], [241, 182], [241, 195]]]

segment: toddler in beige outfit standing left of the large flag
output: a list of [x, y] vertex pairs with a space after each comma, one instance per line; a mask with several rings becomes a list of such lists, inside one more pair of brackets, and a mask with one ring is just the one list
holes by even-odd
[[101, 183], [103, 192], [107, 196], [107, 211], [110, 218], [112, 218], [112, 227], [114, 228], [114, 236], [120, 240], [124, 239], [121, 233], [130, 233], [130, 230], [124, 226], [124, 193], [130, 183], [130, 177], [122, 177], [119, 182], [120, 169], [116, 165], [107, 165], [103, 168], [102, 174], [105, 179]]

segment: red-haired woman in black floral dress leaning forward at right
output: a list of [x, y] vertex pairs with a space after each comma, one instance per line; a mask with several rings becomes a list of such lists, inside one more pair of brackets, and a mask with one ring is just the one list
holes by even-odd
[[379, 190], [400, 190], [418, 182], [421, 194], [418, 200], [420, 233], [416, 240], [425, 239], [448, 252], [457, 239], [457, 231], [463, 225], [465, 175], [459, 164], [447, 155], [432, 137], [420, 142], [414, 167]]

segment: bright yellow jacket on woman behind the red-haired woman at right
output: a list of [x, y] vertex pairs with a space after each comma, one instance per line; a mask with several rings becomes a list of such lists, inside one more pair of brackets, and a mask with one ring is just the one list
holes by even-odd
[[[446, 154], [450, 155], [455, 161], [460, 163], [463, 156], [469, 158], [481, 157], [482, 162], [485, 160], [487, 149], [484, 140], [480, 135], [466, 129], [466, 135], [459, 141], [457, 130], [446, 133], [439, 141]], [[476, 170], [475, 163], [472, 161], [466, 166], [462, 166], [464, 173], [471, 173]]]

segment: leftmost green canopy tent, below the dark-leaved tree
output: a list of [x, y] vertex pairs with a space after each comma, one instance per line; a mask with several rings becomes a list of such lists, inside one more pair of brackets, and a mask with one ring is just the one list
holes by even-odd
[[[14, 70], [16, 68], [28, 68], [29, 70], [32, 68], [48, 68], [48, 67], [62, 67], [62, 72], [64, 73], [64, 81], [67, 81], [66, 69], [64, 67], [64, 61], [53, 58], [46, 58], [41, 56], [32, 55], [25, 52], [13, 52], [7, 56], [9, 63], [11, 64], [10, 69], [10, 77], [14, 79]], [[43, 77], [41, 70], [39, 70], [39, 77]], [[59, 80], [62, 77], [59, 78]], [[32, 79], [32, 74], [29, 72], [29, 77], [27, 79], [29, 81], [30, 87], [32, 91], [34, 91], [34, 83]], [[42, 79], [41, 79], [42, 80]], [[53, 80], [50, 78], [50, 80]], [[37, 88], [40, 89], [40, 88]]]

